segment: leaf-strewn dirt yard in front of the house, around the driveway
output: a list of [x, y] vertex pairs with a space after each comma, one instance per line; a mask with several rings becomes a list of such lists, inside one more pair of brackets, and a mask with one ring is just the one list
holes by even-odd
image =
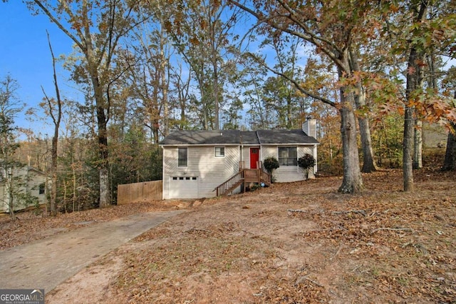
[[[398, 170], [363, 180], [356, 196], [337, 193], [341, 178], [318, 177], [165, 202], [188, 211], [101, 258], [46, 303], [456, 303], [456, 174], [417, 171], [414, 193], [401, 191]], [[1, 248], [160, 204], [2, 218]]]

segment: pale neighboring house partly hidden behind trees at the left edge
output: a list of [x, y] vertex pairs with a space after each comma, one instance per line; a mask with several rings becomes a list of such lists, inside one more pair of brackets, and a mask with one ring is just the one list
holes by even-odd
[[[0, 168], [0, 171], [0, 212], [9, 213], [9, 191], [8, 185], [5, 183], [6, 171], [4, 168]], [[44, 191], [46, 182], [45, 173], [30, 166], [16, 166], [13, 168], [12, 176], [19, 178], [20, 181], [18, 181], [17, 184], [20, 184], [18, 191], [21, 194], [28, 193], [30, 196], [38, 198], [38, 203], [40, 205], [46, 203]], [[27, 203], [18, 198], [14, 201], [14, 211], [25, 209], [30, 206], [34, 206], [34, 204]]]

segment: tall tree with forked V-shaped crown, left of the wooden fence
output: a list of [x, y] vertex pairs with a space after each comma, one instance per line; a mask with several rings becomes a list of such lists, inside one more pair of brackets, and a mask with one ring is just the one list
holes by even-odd
[[[110, 86], [119, 75], [113, 73], [113, 60], [122, 39], [141, 21], [135, 8], [141, 1], [33, 0], [30, 9], [41, 11], [78, 47], [84, 62], [75, 72], [86, 74], [93, 90], [98, 126], [100, 207], [109, 206], [108, 121]], [[76, 73], [77, 74], [77, 73]], [[84, 77], [78, 75], [80, 79]]]

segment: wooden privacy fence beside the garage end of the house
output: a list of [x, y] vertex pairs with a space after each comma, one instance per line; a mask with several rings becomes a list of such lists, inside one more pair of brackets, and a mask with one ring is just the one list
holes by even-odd
[[161, 201], [163, 181], [145, 181], [118, 185], [117, 203], [134, 203], [138, 201]]

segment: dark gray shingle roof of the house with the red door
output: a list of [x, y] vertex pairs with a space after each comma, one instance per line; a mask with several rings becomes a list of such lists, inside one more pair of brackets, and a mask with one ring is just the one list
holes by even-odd
[[162, 146], [214, 145], [214, 144], [315, 144], [314, 137], [302, 130], [259, 130], [259, 131], [174, 131], [160, 142]]

